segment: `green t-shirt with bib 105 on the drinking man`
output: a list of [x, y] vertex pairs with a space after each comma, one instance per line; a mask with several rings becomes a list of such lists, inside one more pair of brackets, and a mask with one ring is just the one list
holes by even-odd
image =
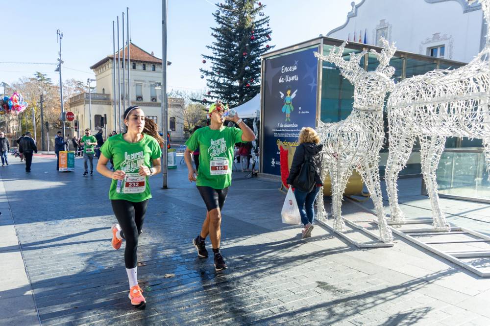
[[192, 134], [185, 144], [190, 151], [199, 148], [197, 186], [223, 189], [231, 185], [233, 147], [242, 142], [242, 134], [242, 129], [224, 126], [220, 130], [199, 128]]

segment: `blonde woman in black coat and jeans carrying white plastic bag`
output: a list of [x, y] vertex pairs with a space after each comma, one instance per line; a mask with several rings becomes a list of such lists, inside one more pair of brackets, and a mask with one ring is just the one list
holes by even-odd
[[[286, 182], [290, 187], [293, 186], [294, 188], [294, 197], [301, 215], [301, 223], [304, 225], [304, 229], [301, 231], [304, 239], [311, 236], [312, 224], [315, 218], [313, 204], [320, 187], [323, 186], [323, 178], [321, 176], [321, 150], [323, 145], [319, 144], [320, 138], [315, 129], [310, 127], [301, 129], [298, 142], [299, 145], [294, 152], [293, 163]], [[313, 180], [304, 180], [305, 173], [301, 173], [301, 168], [303, 165], [309, 164], [314, 169], [314, 178]]]

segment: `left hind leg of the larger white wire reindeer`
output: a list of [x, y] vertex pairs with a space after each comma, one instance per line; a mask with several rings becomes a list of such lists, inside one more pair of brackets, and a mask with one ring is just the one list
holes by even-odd
[[[403, 133], [403, 130], [390, 134], [390, 152], [386, 164], [385, 182], [390, 201], [390, 217], [392, 222], [404, 223], [405, 214], [398, 205], [397, 181], [400, 171], [407, 164], [415, 138]], [[407, 130], [406, 132], [410, 132]]]

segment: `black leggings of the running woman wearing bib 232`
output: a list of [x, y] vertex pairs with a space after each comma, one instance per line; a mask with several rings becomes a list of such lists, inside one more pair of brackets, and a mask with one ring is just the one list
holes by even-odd
[[135, 268], [138, 263], [136, 257], [138, 237], [143, 227], [148, 200], [133, 203], [127, 200], [113, 199], [111, 204], [112, 210], [121, 226], [121, 236], [126, 240], [124, 264], [126, 268]]

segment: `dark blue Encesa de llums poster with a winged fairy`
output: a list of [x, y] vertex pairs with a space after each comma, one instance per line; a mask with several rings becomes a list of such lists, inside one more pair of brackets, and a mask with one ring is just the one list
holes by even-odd
[[318, 46], [265, 59], [263, 173], [281, 174], [277, 143], [297, 146], [302, 127], [315, 128]]

